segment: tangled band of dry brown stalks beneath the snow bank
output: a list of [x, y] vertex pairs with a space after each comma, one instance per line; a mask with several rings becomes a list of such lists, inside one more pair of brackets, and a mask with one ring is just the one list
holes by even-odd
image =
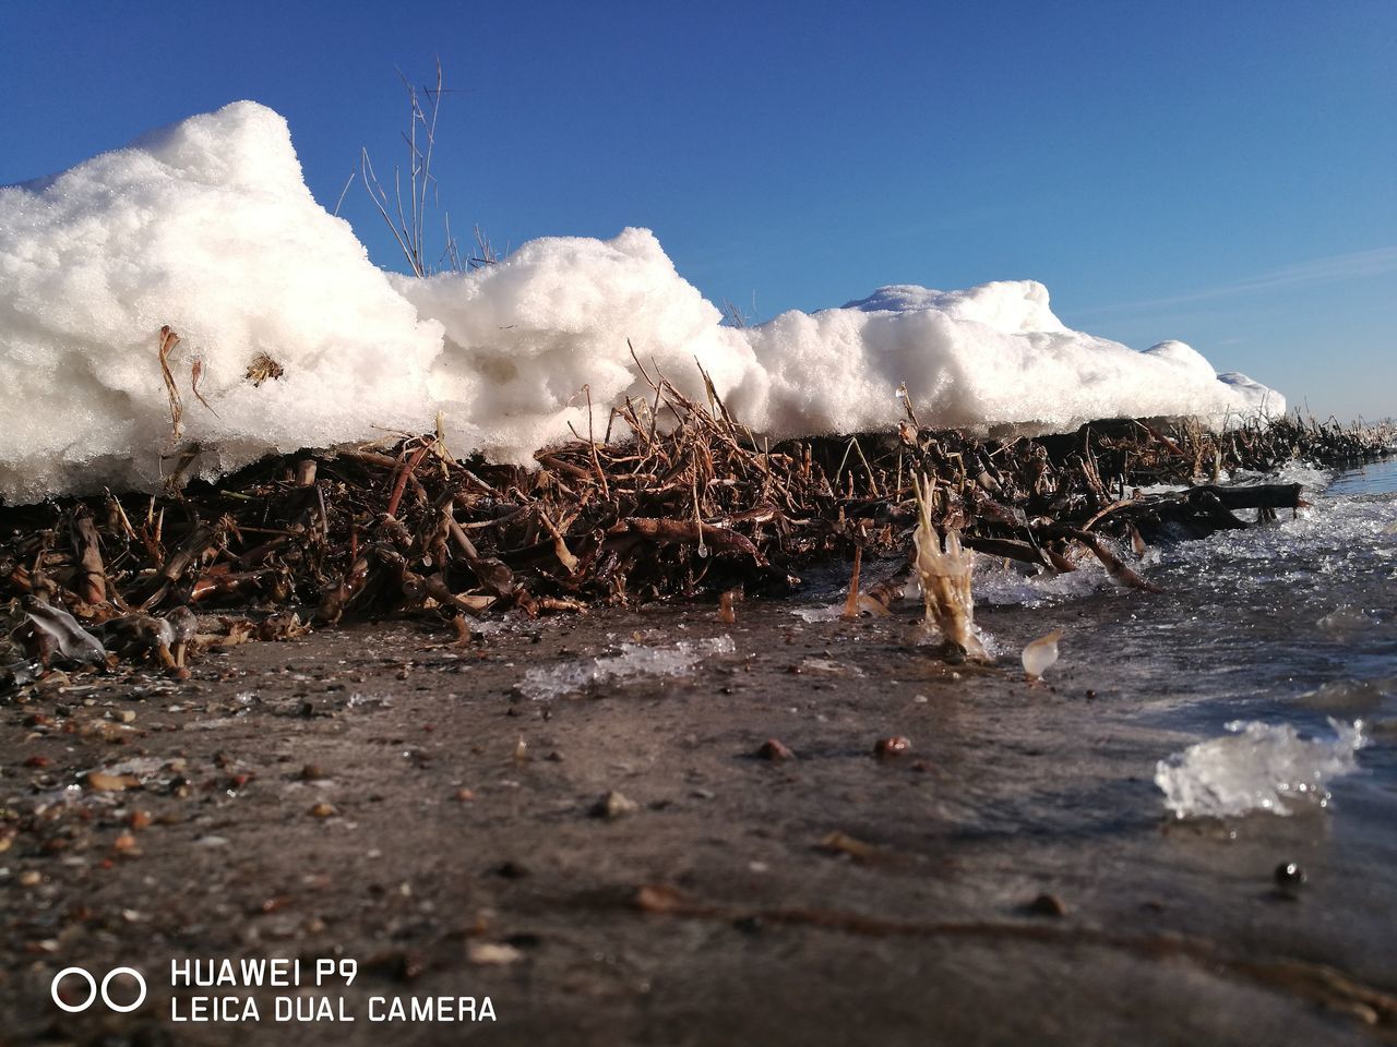
[[[651, 399], [613, 412], [599, 440], [541, 451], [534, 470], [458, 459], [434, 434], [265, 461], [165, 496], [0, 510], [0, 687], [113, 655], [179, 671], [186, 648], [367, 613], [427, 613], [464, 632], [507, 609], [708, 592], [725, 593], [732, 614], [735, 593], [787, 591], [807, 565], [855, 553], [866, 568], [890, 557], [880, 579], [851, 592], [851, 613], [877, 611], [901, 595], [921, 512], [932, 530], [1028, 570], [1097, 557], [1120, 584], [1153, 589], [1132, 546], [1302, 504], [1298, 484], [1221, 486], [1224, 473], [1358, 462], [1389, 438], [1284, 419], [1225, 434], [1116, 420], [989, 440], [921, 427], [908, 405], [895, 433], [771, 445], [711, 387], [696, 403], [647, 378]], [[921, 510], [914, 477], [925, 477]], [[1154, 483], [1189, 487], [1134, 490]], [[967, 639], [950, 639], [964, 655]]]

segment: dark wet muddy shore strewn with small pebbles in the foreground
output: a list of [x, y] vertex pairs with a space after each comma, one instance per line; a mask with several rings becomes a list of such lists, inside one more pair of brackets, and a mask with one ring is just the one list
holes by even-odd
[[[1009, 655], [957, 669], [912, 642], [912, 607], [749, 603], [733, 625], [599, 611], [464, 648], [356, 625], [0, 709], [0, 1043], [1390, 1039], [1397, 856], [1336, 845], [1324, 811], [1165, 819], [1154, 761], [1193, 737], [1141, 716], [1112, 649], [1147, 600], [1094, 597], [1115, 634], [1065, 641], [1038, 685], [1018, 648], [1085, 611], [985, 610]], [[518, 692], [637, 632], [733, 651]], [[1175, 658], [1155, 694], [1187, 687]], [[875, 757], [893, 736], [909, 750]], [[760, 758], [768, 738], [795, 758]], [[74, 787], [92, 768], [131, 787]], [[636, 810], [598, 817], [610, 790]], [[1309, 874], [1294, 895], [1281, 861]], [[172, 959], [244, 956], [303, 958], [307, 981], [356, 959], [352, 986], [299, 993], [358, 1020], [275, 1022], [295, 988], [170, 988]], [[66, 1015], [70, 965], [134, 966], [149, 998]], [[210, 994], [261, 1022], [172, 1020]], [[367, 1020], [370, 997], [443, 995], [488, 995], [496, 1020]]]

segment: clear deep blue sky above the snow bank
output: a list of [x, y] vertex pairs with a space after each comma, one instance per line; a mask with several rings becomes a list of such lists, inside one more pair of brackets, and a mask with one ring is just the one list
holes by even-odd
[[0, 183], [251, 98], [332, 208], [436, 54], [441, 200], [500, 246], [650, 226], [761, 318], [1032, 278], [1071, 327], [1397, 413], [1394, 0], [10, 0]]

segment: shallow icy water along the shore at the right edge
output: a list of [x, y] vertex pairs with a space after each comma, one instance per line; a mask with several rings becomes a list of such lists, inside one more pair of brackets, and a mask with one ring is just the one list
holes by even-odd
[[[1109, 680], [1097, 684], [1099, 713], [1080, 726], [1092, 741], [1076, 765], [1027, 768], [1020, 789], [1034, 805], [1018, 805], [1009, 821], [1049, 835], [1092, 826], [1113, 835], [1126, 861], [1172, 868], [1175, 886], [1194, 874], [1182, 893], [1200, 912], [1246, 898], [1239, 877], [1264, 885], [1277, 863], [1299, 859], [1309, 896], [1324, 909], [1329, 931], [1319, 937], [1333, 935], [1330, 945], [1361, 966], [1377, 960], [1369, 969], [1390, 977], [1390, 962], [1372, 951], [1387, 933], [1370, 937], [1362, 926], [1384, 920], [1397, 899], [1397, 462], [1294, 479], [1306, 484], [1310, 508], [1161, 547], [1147, 575], [1164, 595], [1069, 578], [1039, 586], [1031, 607], [981, 616], [1010, 652], [1065, 628], [1060, 690]], [[1153, 782], [1157, 761], [1228, 736], [1236, 722], [1294, 727], [1322, 752], [1336, 737], [1330, 718], [1362, 720], [1366, 744], [1356, 771], [1316, 790], [1323, 804], [1288, 803], [1291, 817], [1257, 810], [1171, 825]], [[1150, 839], [1146, 819], [1158, 815], [1165, 832]], [[986, 804], [978, 818], [1003, 824], [1006, 812]]]

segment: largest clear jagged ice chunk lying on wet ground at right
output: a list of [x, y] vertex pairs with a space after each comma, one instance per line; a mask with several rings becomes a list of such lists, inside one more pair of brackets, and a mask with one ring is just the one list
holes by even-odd
[[1154, 780], [1179, 818], [1227, 818], [1248, 811], [1289, 814], [1285, 801], [1324, 805], [1326, 783], [1358, 769], [1362, 720], [1330, 719], [1333, 740], [1302, 738], [1288, 723], [1234, 720], [1232, 732], [1161, 759]]

